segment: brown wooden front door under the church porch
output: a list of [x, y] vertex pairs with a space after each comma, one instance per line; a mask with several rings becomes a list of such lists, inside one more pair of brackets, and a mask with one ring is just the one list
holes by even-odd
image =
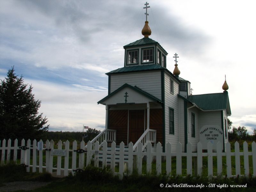
[[144, 132], [145, 110], [129, 110], [129, 143], [135, 144]]

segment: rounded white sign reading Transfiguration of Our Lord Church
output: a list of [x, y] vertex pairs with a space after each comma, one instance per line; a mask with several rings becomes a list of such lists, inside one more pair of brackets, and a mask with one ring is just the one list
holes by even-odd
[[223, 131], [218, 125], [204, 125], [199, 131], [199, 140], [203, 149], [207, 149], [207, 144], [212, 143], [212, 149], [217, 149], [217, 143], [222, 143], [223, 149]]

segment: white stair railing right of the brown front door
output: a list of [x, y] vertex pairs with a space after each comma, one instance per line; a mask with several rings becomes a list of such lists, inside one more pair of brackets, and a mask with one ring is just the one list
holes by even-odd
[[148, 144], [148, 142], [154, 144], [156, 146], [156, 130], [154, 129], [146, 129], [146, 131], [140, 136], [140, 139], [133, 145], [133, 151], [137, 150], [138, 143], [142, 143], [142, 150], [144, 150]]

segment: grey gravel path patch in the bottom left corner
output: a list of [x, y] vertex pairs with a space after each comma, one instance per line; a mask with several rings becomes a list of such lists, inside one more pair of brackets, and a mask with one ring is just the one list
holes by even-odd
[[48, 185], [50, 182], [38, 182], [38, 181], [15, 181], [4, 183], [5, 186], [0, 187], [0, 192], [4, 191], [16, 191], [16, 190], [32, 190], [36, 188]]

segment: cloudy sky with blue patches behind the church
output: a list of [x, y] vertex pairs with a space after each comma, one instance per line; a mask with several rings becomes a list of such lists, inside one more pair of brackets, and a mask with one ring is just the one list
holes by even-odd
[[[254, 1], [148, 1], [150, 38], [177, 52], [193, 94], [222, 92], [233, 125], [256, 128]], [[102, 130], [105, 73], [123, 67], [123, 46], [141, 39], [145, 0], [1, 0], [0, 79], [14, 66], [32, 84], [50, 131]], [[254, 88], [253, 88], [254, 87]]]

